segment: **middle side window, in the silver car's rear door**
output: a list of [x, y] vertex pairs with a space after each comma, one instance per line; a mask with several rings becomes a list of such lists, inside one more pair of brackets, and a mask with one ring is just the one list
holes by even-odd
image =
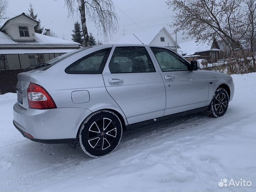
[[155, 72], [145, 47], [116, 47], [110, 60], [111, 73]]

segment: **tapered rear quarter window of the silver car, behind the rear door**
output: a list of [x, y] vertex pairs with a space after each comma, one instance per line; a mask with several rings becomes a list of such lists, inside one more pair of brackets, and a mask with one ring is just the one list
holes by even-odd
[[101, 49], [77, 60], [65, 69], [68, 74], [101, 74], [111, 48]]

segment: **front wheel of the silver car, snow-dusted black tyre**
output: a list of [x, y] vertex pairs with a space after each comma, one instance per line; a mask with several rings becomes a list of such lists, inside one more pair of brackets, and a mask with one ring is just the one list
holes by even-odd
[[210, 110], [206, 114], [210, 117], [221, 117], [228, 110], [229, 96], [228, 92], [223, 88], [218, 88], [210, 103]]

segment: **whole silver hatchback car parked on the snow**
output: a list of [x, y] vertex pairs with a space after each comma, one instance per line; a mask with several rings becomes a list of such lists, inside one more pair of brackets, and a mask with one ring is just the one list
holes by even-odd
[[18, 74], [14, 126], [35, 142], [109, 154], [127, 126], [199, 111], [223, 116], [231, 76], [201, 70], [166, 47], [81, 48]]

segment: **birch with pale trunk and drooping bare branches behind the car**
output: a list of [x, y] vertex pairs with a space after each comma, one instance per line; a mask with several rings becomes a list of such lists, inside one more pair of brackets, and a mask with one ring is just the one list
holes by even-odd
[[73, 16], [75, 11], [80, 12], [85, 47], [89, 46], [87, 18], [95, 23], [105, 39], [118, 31], [118, 16], [112, 0], [65, 0], [65, 6], [68, 7], [69, 16]]

